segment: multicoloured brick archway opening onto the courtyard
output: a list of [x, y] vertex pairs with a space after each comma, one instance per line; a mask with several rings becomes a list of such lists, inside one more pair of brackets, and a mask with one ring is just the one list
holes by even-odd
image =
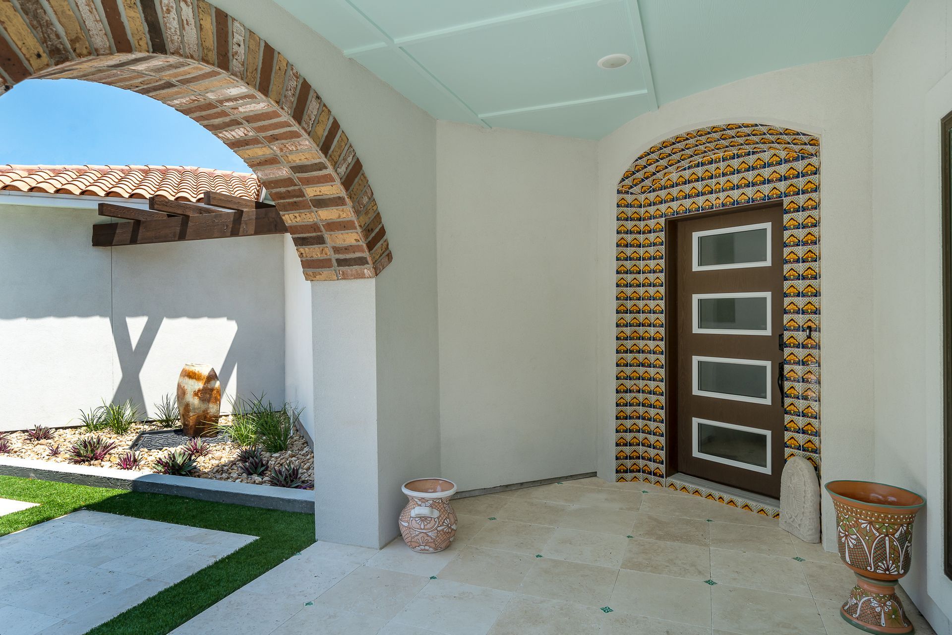
[[374, 277], [392, 260], [367, 174], [327, 104], [205, 0], [0, 0], [0, 94], [31, 77], [134, 90], [211, 131], [268, 189], [307, 280]]

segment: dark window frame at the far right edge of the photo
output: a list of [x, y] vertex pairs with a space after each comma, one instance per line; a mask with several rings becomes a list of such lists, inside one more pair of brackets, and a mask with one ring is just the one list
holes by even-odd
[[942, 117], [942, 413], [945, 452], [945, 575], [952, 579], [952, 112]]

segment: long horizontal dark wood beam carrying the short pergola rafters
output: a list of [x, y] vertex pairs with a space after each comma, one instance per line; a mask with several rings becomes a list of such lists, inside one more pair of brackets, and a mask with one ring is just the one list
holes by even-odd
[[[152, 212], [159, 213], [159, 212]], [[149, 243], [174, 243], [231, 236], [286, 233], [288, 228], [277, 209], [221, 211], [213, 214], [178, 216], [92, 226], [93, 247], [118, 247]]]

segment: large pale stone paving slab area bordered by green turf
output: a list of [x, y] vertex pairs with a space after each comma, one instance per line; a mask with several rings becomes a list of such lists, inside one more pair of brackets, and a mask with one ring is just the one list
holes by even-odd
[[78, 635], [253, 536], [97, 511], [0, 536], [0, 635]]

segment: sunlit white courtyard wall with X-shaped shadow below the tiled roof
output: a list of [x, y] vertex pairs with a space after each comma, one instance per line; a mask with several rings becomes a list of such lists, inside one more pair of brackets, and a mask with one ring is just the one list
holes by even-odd
[[284, 401], [281, 236], [92, 248], [95, 209], [37, 203], [0, 194], [0, 429], [152, 414], [189, 362]]

